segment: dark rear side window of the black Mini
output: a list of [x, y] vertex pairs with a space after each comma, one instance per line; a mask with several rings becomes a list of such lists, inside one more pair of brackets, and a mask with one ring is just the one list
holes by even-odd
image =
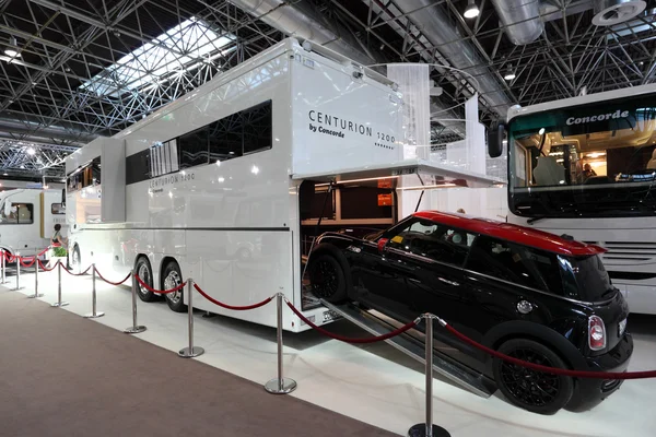
[[555, 253], [480, 236], [471, 248], [467, 269], [531, 288], [563, 294]]

